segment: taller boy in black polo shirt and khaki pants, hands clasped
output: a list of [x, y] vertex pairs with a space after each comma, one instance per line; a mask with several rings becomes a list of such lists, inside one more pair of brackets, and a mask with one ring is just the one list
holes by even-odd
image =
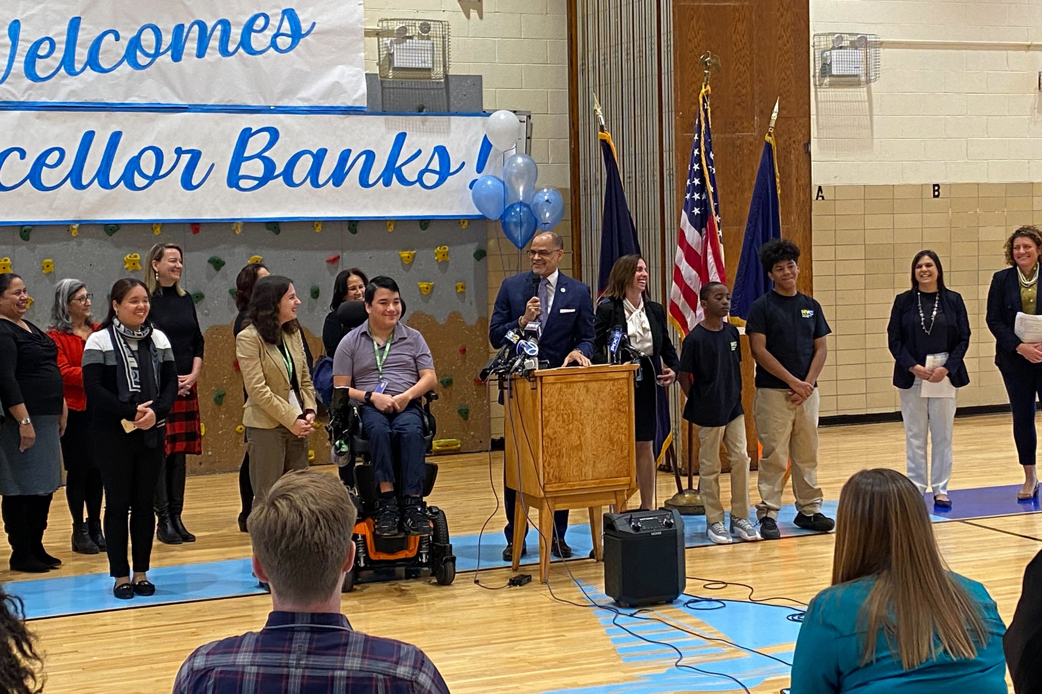
[[782, 508], [787, 463], [792, 462], [796, 495], [793, 522], [804, 530], [827, 533], [836, 522], [821, 513], [818, 487], [818, 375], [825, 365], [825, 335], [832, 332], [821, 305], [796, 291], [799, 249], [788, 239], [773, 239], [760, 249], [760, 261], [774, 289], [749, 307], [745, 332], [756, 360], [756, 399], [752, 408], [760, 458], [760, 535], [782, 537]]

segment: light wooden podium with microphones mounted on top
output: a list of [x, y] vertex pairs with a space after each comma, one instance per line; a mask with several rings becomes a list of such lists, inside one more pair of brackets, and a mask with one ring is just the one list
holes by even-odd
[[527, 509], [539, 509], [539, 579], [550, 569], [553, 512], [588, 509], [594, 556], [603, 558], [601, 510], [625, 508], [637, 489], [636, 364], [551, 368], [514, 377], [506, 394], [506, 485], [518, 491], [514, 570]]

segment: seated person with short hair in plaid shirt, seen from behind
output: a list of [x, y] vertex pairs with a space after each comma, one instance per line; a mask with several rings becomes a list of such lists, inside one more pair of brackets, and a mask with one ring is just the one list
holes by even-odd
[[356, 513], [331, 474], [295, 470], [279, 479], [247, 521], [253, 571], [271, 586], [268, 623], [197, 648], [174, 694], [448, 694], [422, 650], [355, 632], [341, 614]]

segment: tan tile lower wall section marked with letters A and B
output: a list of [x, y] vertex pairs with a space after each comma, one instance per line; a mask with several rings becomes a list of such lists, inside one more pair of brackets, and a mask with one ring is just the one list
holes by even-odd
[[819, 380], [821, 415], [900, 409], [887, 323], [923, 249], [940, 256], [945, 284], [969, 313], [970, 384], [960, 389], [960, 407], [1006, 404], [985, 324], [988, 287], [1006, 266], [1007, 235], [1042, 223], [1042, 183], [941, 184], [939, 198], [932, 184], [825, 185], [821, 194], [813, 204], [814, 297], [833, 329]]

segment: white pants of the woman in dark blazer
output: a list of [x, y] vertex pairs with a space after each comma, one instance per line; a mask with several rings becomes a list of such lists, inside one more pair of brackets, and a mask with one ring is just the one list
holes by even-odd
[[954, 397], [920, 397], [922, 379], [911, 388], [899, 388], [901, 418], [904, 419], [904, 456], [908, 475], [920, 492], [926, 487], [926, 435], [929, 433], [929, 487], [934, 495], [948, 493], [951, 479], [951, 430], [956, 420]]

